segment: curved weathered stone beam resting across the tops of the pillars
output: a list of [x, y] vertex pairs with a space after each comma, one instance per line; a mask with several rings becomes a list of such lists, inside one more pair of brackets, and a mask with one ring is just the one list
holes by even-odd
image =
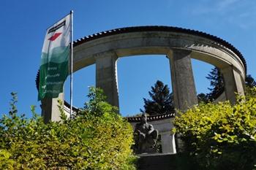
[[170, 47], [191, 50], [191, 58], [219, 68], [232, 64], [245, 77], [245, 66], [236, 53], [219, 42], [194, 34], [168, 31], [130, 32], [104, 36], [74, 47], [74, 71], [95, 63], [95, 55], [115, 51], [118, 58], [129, 55], [162, 54]]

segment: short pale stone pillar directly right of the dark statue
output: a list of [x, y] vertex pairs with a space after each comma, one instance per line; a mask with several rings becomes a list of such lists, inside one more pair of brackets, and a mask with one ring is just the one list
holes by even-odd
[[170, 131], [161, 134], [161, 145], [163, 153], [176, 153], [174, 136]]

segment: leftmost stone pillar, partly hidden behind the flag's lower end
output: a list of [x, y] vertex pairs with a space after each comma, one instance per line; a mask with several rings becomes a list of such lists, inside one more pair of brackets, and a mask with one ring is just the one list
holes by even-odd
[[42, 117], [45, 123], [61, 120], [58, 100], [64, 104], [64, 93], [59, 93], [58, 98], [43, 98], [41, 101]]

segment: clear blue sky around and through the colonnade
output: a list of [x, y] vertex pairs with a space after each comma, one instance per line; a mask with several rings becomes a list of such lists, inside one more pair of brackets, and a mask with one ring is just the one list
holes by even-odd
[[[10, 93], [18, 92], [18, 110], [31, 116], [37, 106], [35, 77], [48, 26], [74, 10], [74, 39], [128, 26], [178, 26], [219, 36], [246, 58], [248, 74], [256, 76], [256, 1], [252, 0], [2, 0], [0, 2], [0, 115], [9, 110]], [[208, 92], [206, 75], [212, 66], [192, 61], [197, 93]], [[143, 55], [118, 61], [122, 115], [143, 108], [143, 97], [157, 80], [170, 87], [170, 67], [164, 55]], [[68, 83], [66, 83], [68, 84]], [[74, 104], [83, 107], [88, 86], [95, 85], [95, 66], [74, 75]], [[65, 85], [69, 101], [69, 85]]]

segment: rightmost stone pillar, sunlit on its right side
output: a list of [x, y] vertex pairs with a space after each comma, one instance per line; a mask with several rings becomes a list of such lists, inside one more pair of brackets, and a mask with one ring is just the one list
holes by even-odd
[[231, 104], [236, 103], [236, 93], [239, 95], [244, 95], [244, 80], [238, 73], [238, 71], [233, 68], [233, 66], [227, 66], [220, 69], [224, 77], [225, 83], [225, 94], [227, 100]]

